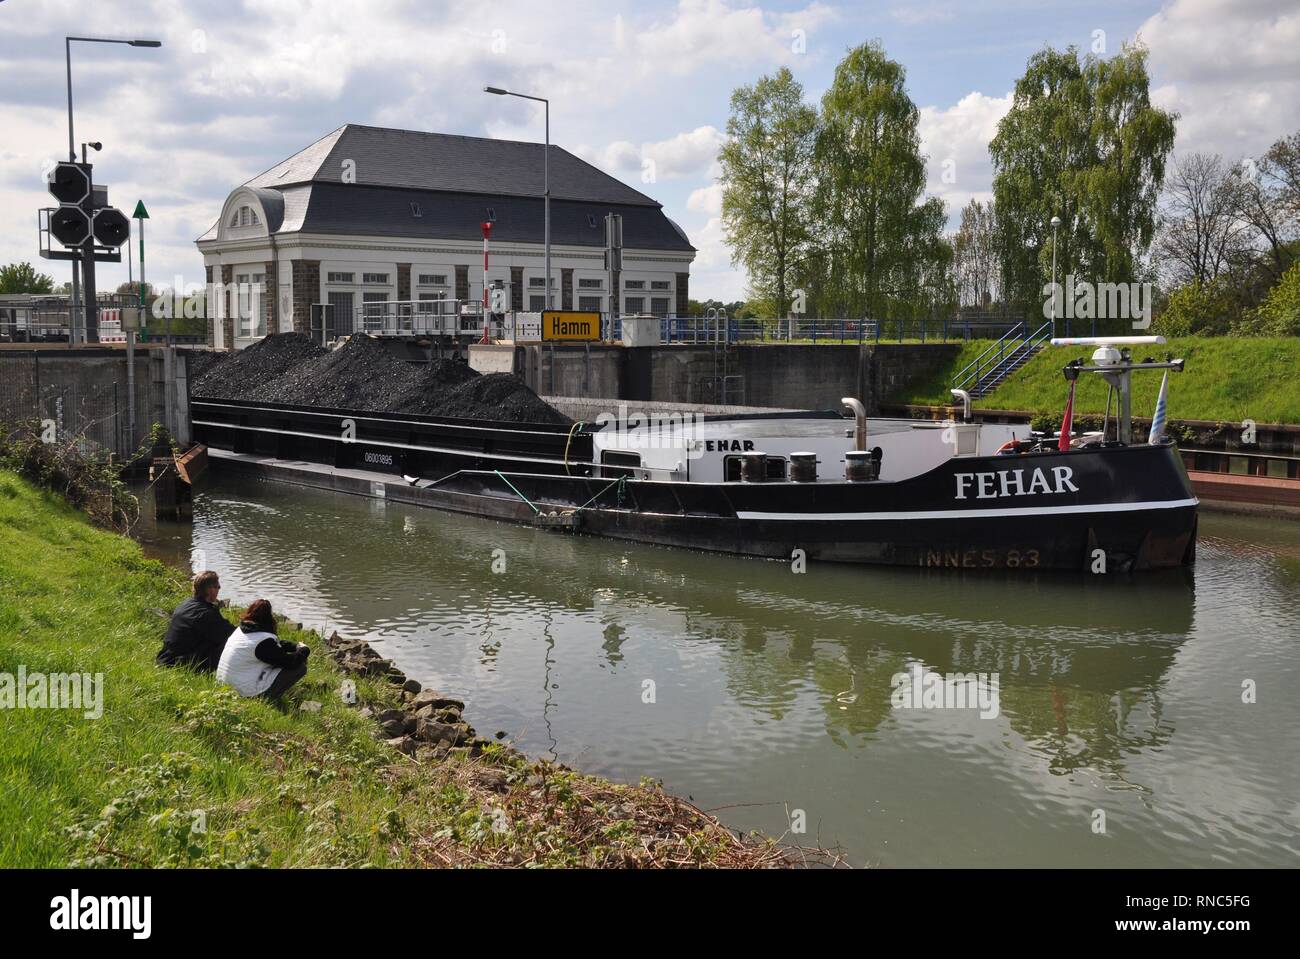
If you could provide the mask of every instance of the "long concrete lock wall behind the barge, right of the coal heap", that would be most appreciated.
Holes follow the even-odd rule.
[[[784,409],[833,409],[842,396],[857,396],[872,416],[894,389],[933,373],[958,350],[945,343],[504,348],[514,351],[515,372],[547,396]]]

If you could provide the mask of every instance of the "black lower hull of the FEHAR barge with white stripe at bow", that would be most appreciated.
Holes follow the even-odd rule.
[[[400,478],[216,455],[266,478],[629,542],[950,569],[1128,572],[1190,565],[1196,502],[1173,447],[952,460],[871,483],[668,483],[459,470]],[[958,500],[958,474],[1070,469],[1076,492]],[[508,482],[507,482],[508,481]],[[1122,492],[1121,492],[1122,491]],[[572,516],[566,516],[572,511]],[[554,516],[552,516],[554,513]]]

